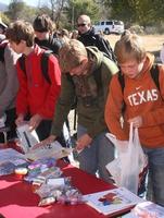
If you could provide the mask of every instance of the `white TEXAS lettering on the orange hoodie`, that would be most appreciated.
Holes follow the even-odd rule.
[[[143,102],[155,101],[159,98],[157,89],[140,90],[127,97],[130,106],[138,106]]]

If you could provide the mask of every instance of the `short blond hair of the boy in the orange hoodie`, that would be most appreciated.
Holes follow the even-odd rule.
[[[122,35],[121,39],[115,44],[114,52],[118,63],[124,63],[129,59],[136,59],[141,62],[146,57],[146,48],[141,37],[130,32]]]

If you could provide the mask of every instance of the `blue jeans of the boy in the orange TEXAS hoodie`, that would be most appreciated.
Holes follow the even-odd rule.
[[[149,160],[148,199],[164,206],[164,148],[146,148]]]

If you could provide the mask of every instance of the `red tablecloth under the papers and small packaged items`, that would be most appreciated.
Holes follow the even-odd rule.
[[[60,162],[65,175],[72,177],[72,184],[83,194],[104,191],[114,187],[96,177],[71,165]],[[0,178],[0,214],[7,218],[103,218],[91,207],[83,204],[66,206],[54,203],[48,207],[38,207],[39,196],[33,193],[31,185],[18,181],[16,177]]]

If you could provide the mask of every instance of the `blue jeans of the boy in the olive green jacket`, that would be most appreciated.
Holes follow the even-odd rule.
[[[87,133],[87,129],[77,126],[77,138]],[[105,166],[114,159],[114,145],[105,137],[105,133],[96,136],[90,144],[77,157],[79,168],[88,173],[96,174],[106,182],[112,182]]]

